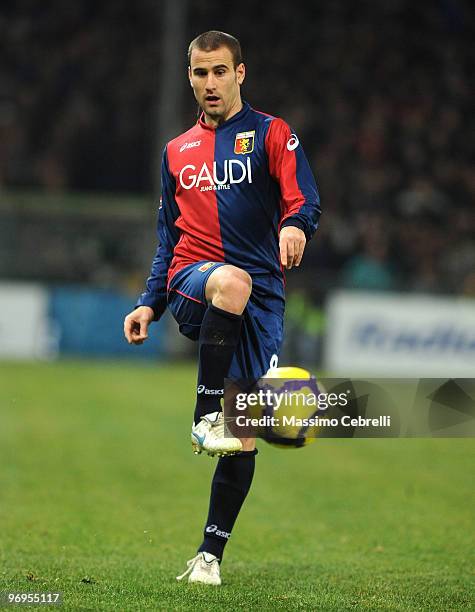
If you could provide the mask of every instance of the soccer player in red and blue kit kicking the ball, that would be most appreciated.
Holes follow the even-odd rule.
[[[277,366],[283,268],[300,265],[320,206],[298,137],[241,99],[239,41],[205,32],[191,42],[188,62],[202,112],[163,152],[159,246],[124,333],[142,344],[168,305],[180,332],[198,341],[192,447],[219,459],[203,542],[178,579],[219,585],[257,453],[255,440],[225,435],[224,379],[257,380]]]

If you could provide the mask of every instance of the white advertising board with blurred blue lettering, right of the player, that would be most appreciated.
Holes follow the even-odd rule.
[[[475,300],[342,291],[330,296],[327,320],[332,373],[474,376]]]

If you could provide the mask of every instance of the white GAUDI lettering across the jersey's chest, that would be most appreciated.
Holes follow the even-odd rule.
[[[206,162],[198,169],[193,164],[187,164],[180,170],[178,175],[180,185],[183,189],[198,187],[200,191],[213,191],[216,189],[230,189],[234,183],[247,181],[252,183],[251,159],[246,162],[239,159],[225,159],[223,174],[218,176],[216,162],[212,168]]]

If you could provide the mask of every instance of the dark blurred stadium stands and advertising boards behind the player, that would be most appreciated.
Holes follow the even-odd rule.
[[[321,227],[287,275],[283,361],[473,373],[469,9],[6,0],[0,356],[192,354],[170,320],[139,349],[121,321],[155,250],[157,160],[196,118],[186,47],[215,28],[240,38],[244,98],[291,124],[321,191]]]

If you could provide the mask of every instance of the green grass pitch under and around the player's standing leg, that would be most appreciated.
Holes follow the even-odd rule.
[[[177,583],[215,463],[191,452],[194,378],[0,364],[0,591],[61,591],[63,610],[474,609],[473,440],[260,442],[223,586]]]

